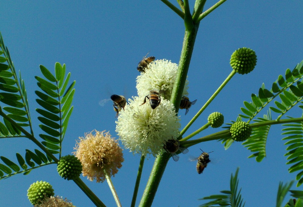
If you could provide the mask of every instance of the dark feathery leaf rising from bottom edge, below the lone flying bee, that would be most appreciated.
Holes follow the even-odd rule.
[[[211,195],[204,197],[200,200],[212,200],[208,203],[200,205],[200,207],[209,207],[209,206],[231,206],[231,207],[244,207],[245,202],[241,198],[241,189],[238,192],[238,172],[239,168],[236,170],[235,176],[231,174],[230,179],[230,190],[220,191],[222,194]],[[226,194],[226,195],[224,195]]]

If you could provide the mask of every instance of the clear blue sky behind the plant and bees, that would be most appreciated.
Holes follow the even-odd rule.
[[[215,2],[206,2],[205,10]],[[193,4],[190,1],[191,9]],[[251,93],[258,93],[262,83],[269,89],[279,74],[285,74],[287,68],[293,69],[302,60],[302,8],[302,1],[234,0],[225,2],[202,20],[188,72],[189,97],[198,101],[186,116],[185,110],[180,111],[182,127],[230,74],[233,51],[252,48],[258,63],[250,74],[236,74],[185,135],[204,125],[214,111],[224,114],[225,123],[236,120],[243,101],[250,101]],[[39,64],[54,71],[55,62],[65,63],[72,73],[71,80],[76,80],[74,111],[63,142],[63,155],[71,154],[75,140],[94,129],[109,130],[117,137],[112,105],[101,107],[98,102],[111,94],[137,94],[136,67],[148,51],[156,59],[179,62],[184,24],[160,1],[6,1],[1,3],[1,11],[0,31],[16,70],[21,71],[25,80],[36,136],[41,133],[34,93],[38,90],[34,76],[42,76]],[[260,116],[264,113],[267,112]],[[301,114],[296,107],[288,115]],[[207,129],[195,138],[219,130]],[[228,150],[217,141],[190,147],[178,162],[169,160],[153,206],[198,206],[203,203],[199,198],[228,190],[231,173],[237,167],[246,206],[275,206],[279,181],[288,182],[296,175],[287,171],[282,138],[281,127],[272,126],[267,157],[261,163],[248,159],[251,153],[241,143],[234,143]],[[0,155],[14,161],[15,153],[24,155],[25,149],[36,148],[25,138],[0,142]],[[196,163],[188,161],[191,156],[200,155],[199,148],[214,151],[210,154],[211,163],[200,175]],[[122,206],[129,206],[140,155],[124,150],[124,159],[112,181]],[[154,157],[145,161],[137,205],[153,162]],[[115,206],[106,182],[90,182],[81,177],[105,205]],[[50,182],[56,195],[70,199],[78,207],[93,206],[74,182],[58,176],[55,165],[33,170],[27,176],[1,180],[0,205],[30,206],[27,189],[37,180]]]

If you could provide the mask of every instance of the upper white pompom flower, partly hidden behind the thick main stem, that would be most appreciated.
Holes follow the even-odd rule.
[[[139,97],[148,96],[150,90],[160,91],[160,95],[170,100],[172,88],[177,76],[178,64],[166,59],[156,60],[148,65],[145,73],[137,77]],[[183,96],[187,96],[188,80],[185,82]]]

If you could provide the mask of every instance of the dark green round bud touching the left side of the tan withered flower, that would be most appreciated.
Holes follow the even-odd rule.
[[[82,165],[74,155],[66,155],[59,160],[57,171],[62,178],[72,180],[80,176]]]

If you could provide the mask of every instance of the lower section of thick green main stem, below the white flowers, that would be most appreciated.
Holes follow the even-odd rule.
[[[171,155],[169,153],[163,153],[161,155],[158,155],[158,157],[156,158],[145,190],[143,192],[139,207],[151,206],[155,198],[155,194],[157,192],[161,177],[164,173],[165,167],[170,157]]]

